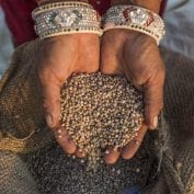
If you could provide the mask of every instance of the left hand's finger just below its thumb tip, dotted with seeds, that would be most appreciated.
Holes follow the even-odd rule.
[[[77,147],[71,140],[68,132],[64,127],[59,127],[58,129],[54,129],[55,137],[65,152],[72,155],[76,152]]]

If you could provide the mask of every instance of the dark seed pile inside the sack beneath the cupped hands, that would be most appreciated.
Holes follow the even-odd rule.
[[[95,171],[88,170],[87,161],[64,155],[57,144],[28,153],[25,161],[41,194],[124,194],[127,187],[144,187],[150,175],[155,179],[155,139],[156,134],[148,133],[133,159],[100,163]]]

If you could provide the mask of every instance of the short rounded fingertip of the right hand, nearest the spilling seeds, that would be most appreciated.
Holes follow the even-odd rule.
[[[104,160],[107,164],[114,164],[119,158],[119,151],[117,149],[107,149],[105,151]]]

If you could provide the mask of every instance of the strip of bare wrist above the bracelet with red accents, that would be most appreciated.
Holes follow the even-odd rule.
[[[146,8],[150,11],[159,13],[162,0],[112,0],[112,5],[118,4],[134,4],[138,7]]]

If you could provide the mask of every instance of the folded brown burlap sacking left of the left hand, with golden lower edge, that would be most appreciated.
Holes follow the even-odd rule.
[[[0,81],[0,149],[27,152],[53,139],[47,129],[34,69],[38,44],[15,50]]]

